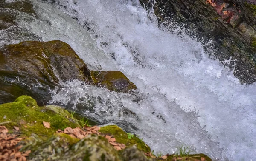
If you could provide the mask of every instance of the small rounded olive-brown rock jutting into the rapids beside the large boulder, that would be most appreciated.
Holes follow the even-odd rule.
[[[120,71],[91,71],[96,84],[116,92],[128,92],[137,87]]]

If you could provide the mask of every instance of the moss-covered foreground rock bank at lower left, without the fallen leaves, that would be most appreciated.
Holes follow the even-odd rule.
[[[66,127],[80,127],[79,121],[73,118],[67,110],[55,105],[39,107],[29,96],[20,96],[15,102],[0,105],[0,124],[9,129],[9,133],[19,134],[25,138],[17,146],[20,151],[31,150],[29,160],[84,160],[84,161],[152,161],[160,158],[147,158],[143,153],[150,153],[150,147],[140,138],[131,133],[125,133],[116,125],[101,127],[100,136],[92,134],[79,140],[64,133],[55,133]],[[50,123],[50,128],[44,127],[43,121]],[[14,126],[19,130],[12,130]],[[116,138],[126,148],[117,151],[103,135]],[[175,155],[169,155],[167,161],[172,161]],[[191,160],[204,157],[204,154],[186,155],[183,158]],[[188,159],[186,159],[188,160]]]

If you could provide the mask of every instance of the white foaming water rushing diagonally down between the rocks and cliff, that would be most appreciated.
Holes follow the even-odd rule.
[[[200,42],[159,29],[154,12],[137,0],[33,4],[38,17],[20,13],[20,28],[67,42],[91,69],[122,71],[138,87],[116,93],[63,82],[51,103],[119,124],[154,152],[174,153],[184,144],[214,159],[256,160],[256,87],[241,85],[236,71],[209,59]]]

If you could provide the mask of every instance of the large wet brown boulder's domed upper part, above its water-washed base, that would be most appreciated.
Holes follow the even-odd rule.
[[[6,46],[0,54],[0,70],[29,75],[39,81],[58,83],[70,79],[87,80],[90,71],[65,42],[26,41]]]

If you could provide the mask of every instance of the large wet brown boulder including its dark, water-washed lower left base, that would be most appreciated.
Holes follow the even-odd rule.
[[[59,82],[90,82],[89,77],[84,62],[70,45],[61,41],[26,41],[0,51],[0,103],[24,94],[47,102],[49,89]]]

